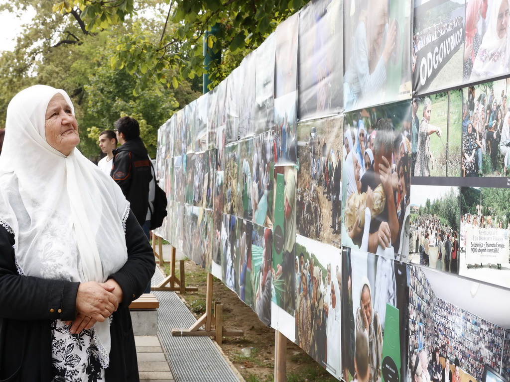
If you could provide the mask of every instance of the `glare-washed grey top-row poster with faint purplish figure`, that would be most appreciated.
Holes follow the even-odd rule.
[[[327,117],[342,110],[343,1],[315,0],[299,13],[298,120]]]

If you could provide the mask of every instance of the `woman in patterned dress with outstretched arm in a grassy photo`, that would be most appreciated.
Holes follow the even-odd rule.
[[[430,98],[425,98],[423,102],[423,118],[420,124],[420,131],[418,132],[418,148],[416,153],[416,165],[414,176],[430,176],[429,163],[433,161],[432,153],[430,152],[430,134],[436,133],[441,137],[441,129],[432,126],[430,122],[430,115],[432,102]]]

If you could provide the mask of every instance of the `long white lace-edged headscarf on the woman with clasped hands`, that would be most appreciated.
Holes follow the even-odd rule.
[[[0,224],[14,233],[20,275],[105,282],[127,260],[129,203],[78,149],[65,156],[46,142],[46,108],[57,93],[74,114],[66,92],[44,85],[22,90],[9,103],[0,156]],[[94,328],[106,368],[110,321]]]

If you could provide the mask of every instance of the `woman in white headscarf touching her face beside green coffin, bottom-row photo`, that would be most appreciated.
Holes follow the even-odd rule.
[[[368,336],[369,382],[380,382],[382,366],[382,328],[377,312],[372,309],[370,282],[362,280],[360,308],[356,311],[356,330]]]

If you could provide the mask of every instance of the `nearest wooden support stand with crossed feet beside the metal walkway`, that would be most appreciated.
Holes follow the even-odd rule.
[[[221,345],[223,337],[244,336],[242,330],[229,330],[223,328],[223,304],[216,301],[214,303],[214,316],[212,315],[213,305],[213,275],[207,274],[207,290],[206,290],[206,313],[204,313],[196,322],[188,329],[172,329],[172,336],[175,337],[192,337],[204,336],[214,337],[216,342]],[[214,325],[214,329],[212,328]],[[200,329],[202,326],[205,329]]]

